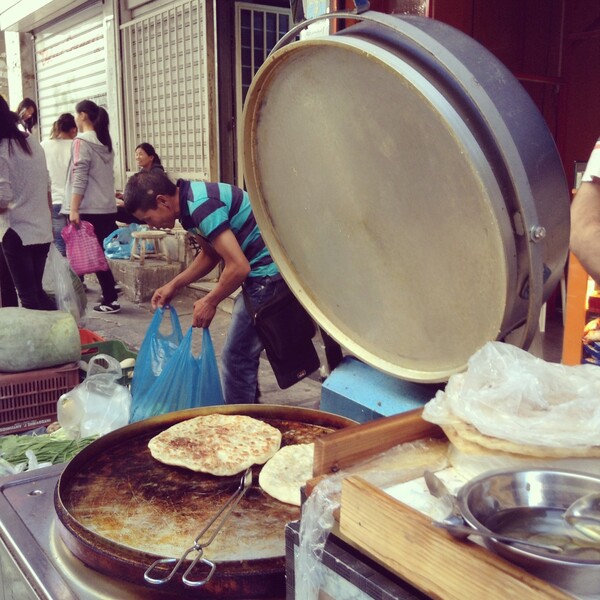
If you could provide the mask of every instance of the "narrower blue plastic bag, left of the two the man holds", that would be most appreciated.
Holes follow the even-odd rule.
[[[164,328],[161,331],[161,325],[167,310],[171,320],[171,333],[163,333]],[[159,308],[152,317],[138,352],[133,379],[131,380],[132,396],[141,398],[146,394],[157,377],[163,372],[169,359],[179,348],[182,339],[183,332],[181,331],[177,311],[169,305]]]

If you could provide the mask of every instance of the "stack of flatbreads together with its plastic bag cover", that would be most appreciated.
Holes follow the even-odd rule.
[[[600,470],[600,369],[549,363],[488,342],[423,409],[469,471],[534,465]],[[463,469],[464,467],[464,469]]]

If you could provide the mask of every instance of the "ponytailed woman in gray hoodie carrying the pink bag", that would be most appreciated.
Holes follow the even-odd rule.
[[[79,133],[73,140],[61,213],[68,215],[75,225],[89,221],[102,248],[104,238],[117,228],[115,155],[108,130],[108,113],[91,100],[83,100],[75,107],[75,123]],[[111,270],[97,271],[96,277],[102,288],[102,298],[94,310],[119,312],[121,307],[117,303]]]

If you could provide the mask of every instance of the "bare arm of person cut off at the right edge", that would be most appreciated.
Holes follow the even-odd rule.
[[[584,182],[571,204],[570,248],[600,283],[600,179]]]

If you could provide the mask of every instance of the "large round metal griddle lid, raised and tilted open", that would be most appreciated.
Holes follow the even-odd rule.
[[[443,381],[485,342],[527,347],[568,248],[553,139],[503,65],[432,19],[374,12],[282,46],[244,107],[256,220],[334,339]]]

